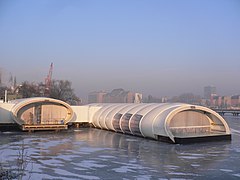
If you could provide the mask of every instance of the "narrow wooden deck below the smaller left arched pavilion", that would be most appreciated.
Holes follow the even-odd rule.
[[[34,125],[24,124],[22,125],[21,128],[23,131],[65,130],[65,129],[68,129],[68,125],[66,124],[34,124]]]

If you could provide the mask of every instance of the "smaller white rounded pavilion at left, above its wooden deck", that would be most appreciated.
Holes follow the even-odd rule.
[[[12,116],[19,125],[67,124],[73,117],[71,106],[57,99],[35,97],[12,103]]]

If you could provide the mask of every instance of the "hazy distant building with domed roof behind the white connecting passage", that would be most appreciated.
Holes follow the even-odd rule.
[[[142,94],[114,89],[110,93],[91,92],[88,95],[88,103],[141,103]]]

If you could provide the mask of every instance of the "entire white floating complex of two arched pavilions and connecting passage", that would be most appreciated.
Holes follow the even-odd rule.
[[[184,103],[97,103],[85,106],[45,97],[3,103],[0,119],[23,131],[65,130],[80,123],[171,143],[231,140],[231,131],[217,112]],[[4,123],[2,120],[1,123]]]

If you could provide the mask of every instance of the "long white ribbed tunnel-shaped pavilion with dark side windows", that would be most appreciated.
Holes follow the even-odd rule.
[[[226,121],[215,111],[190,104],[104,104],[93,125],[101,129],[158,140],[230,135]]]

